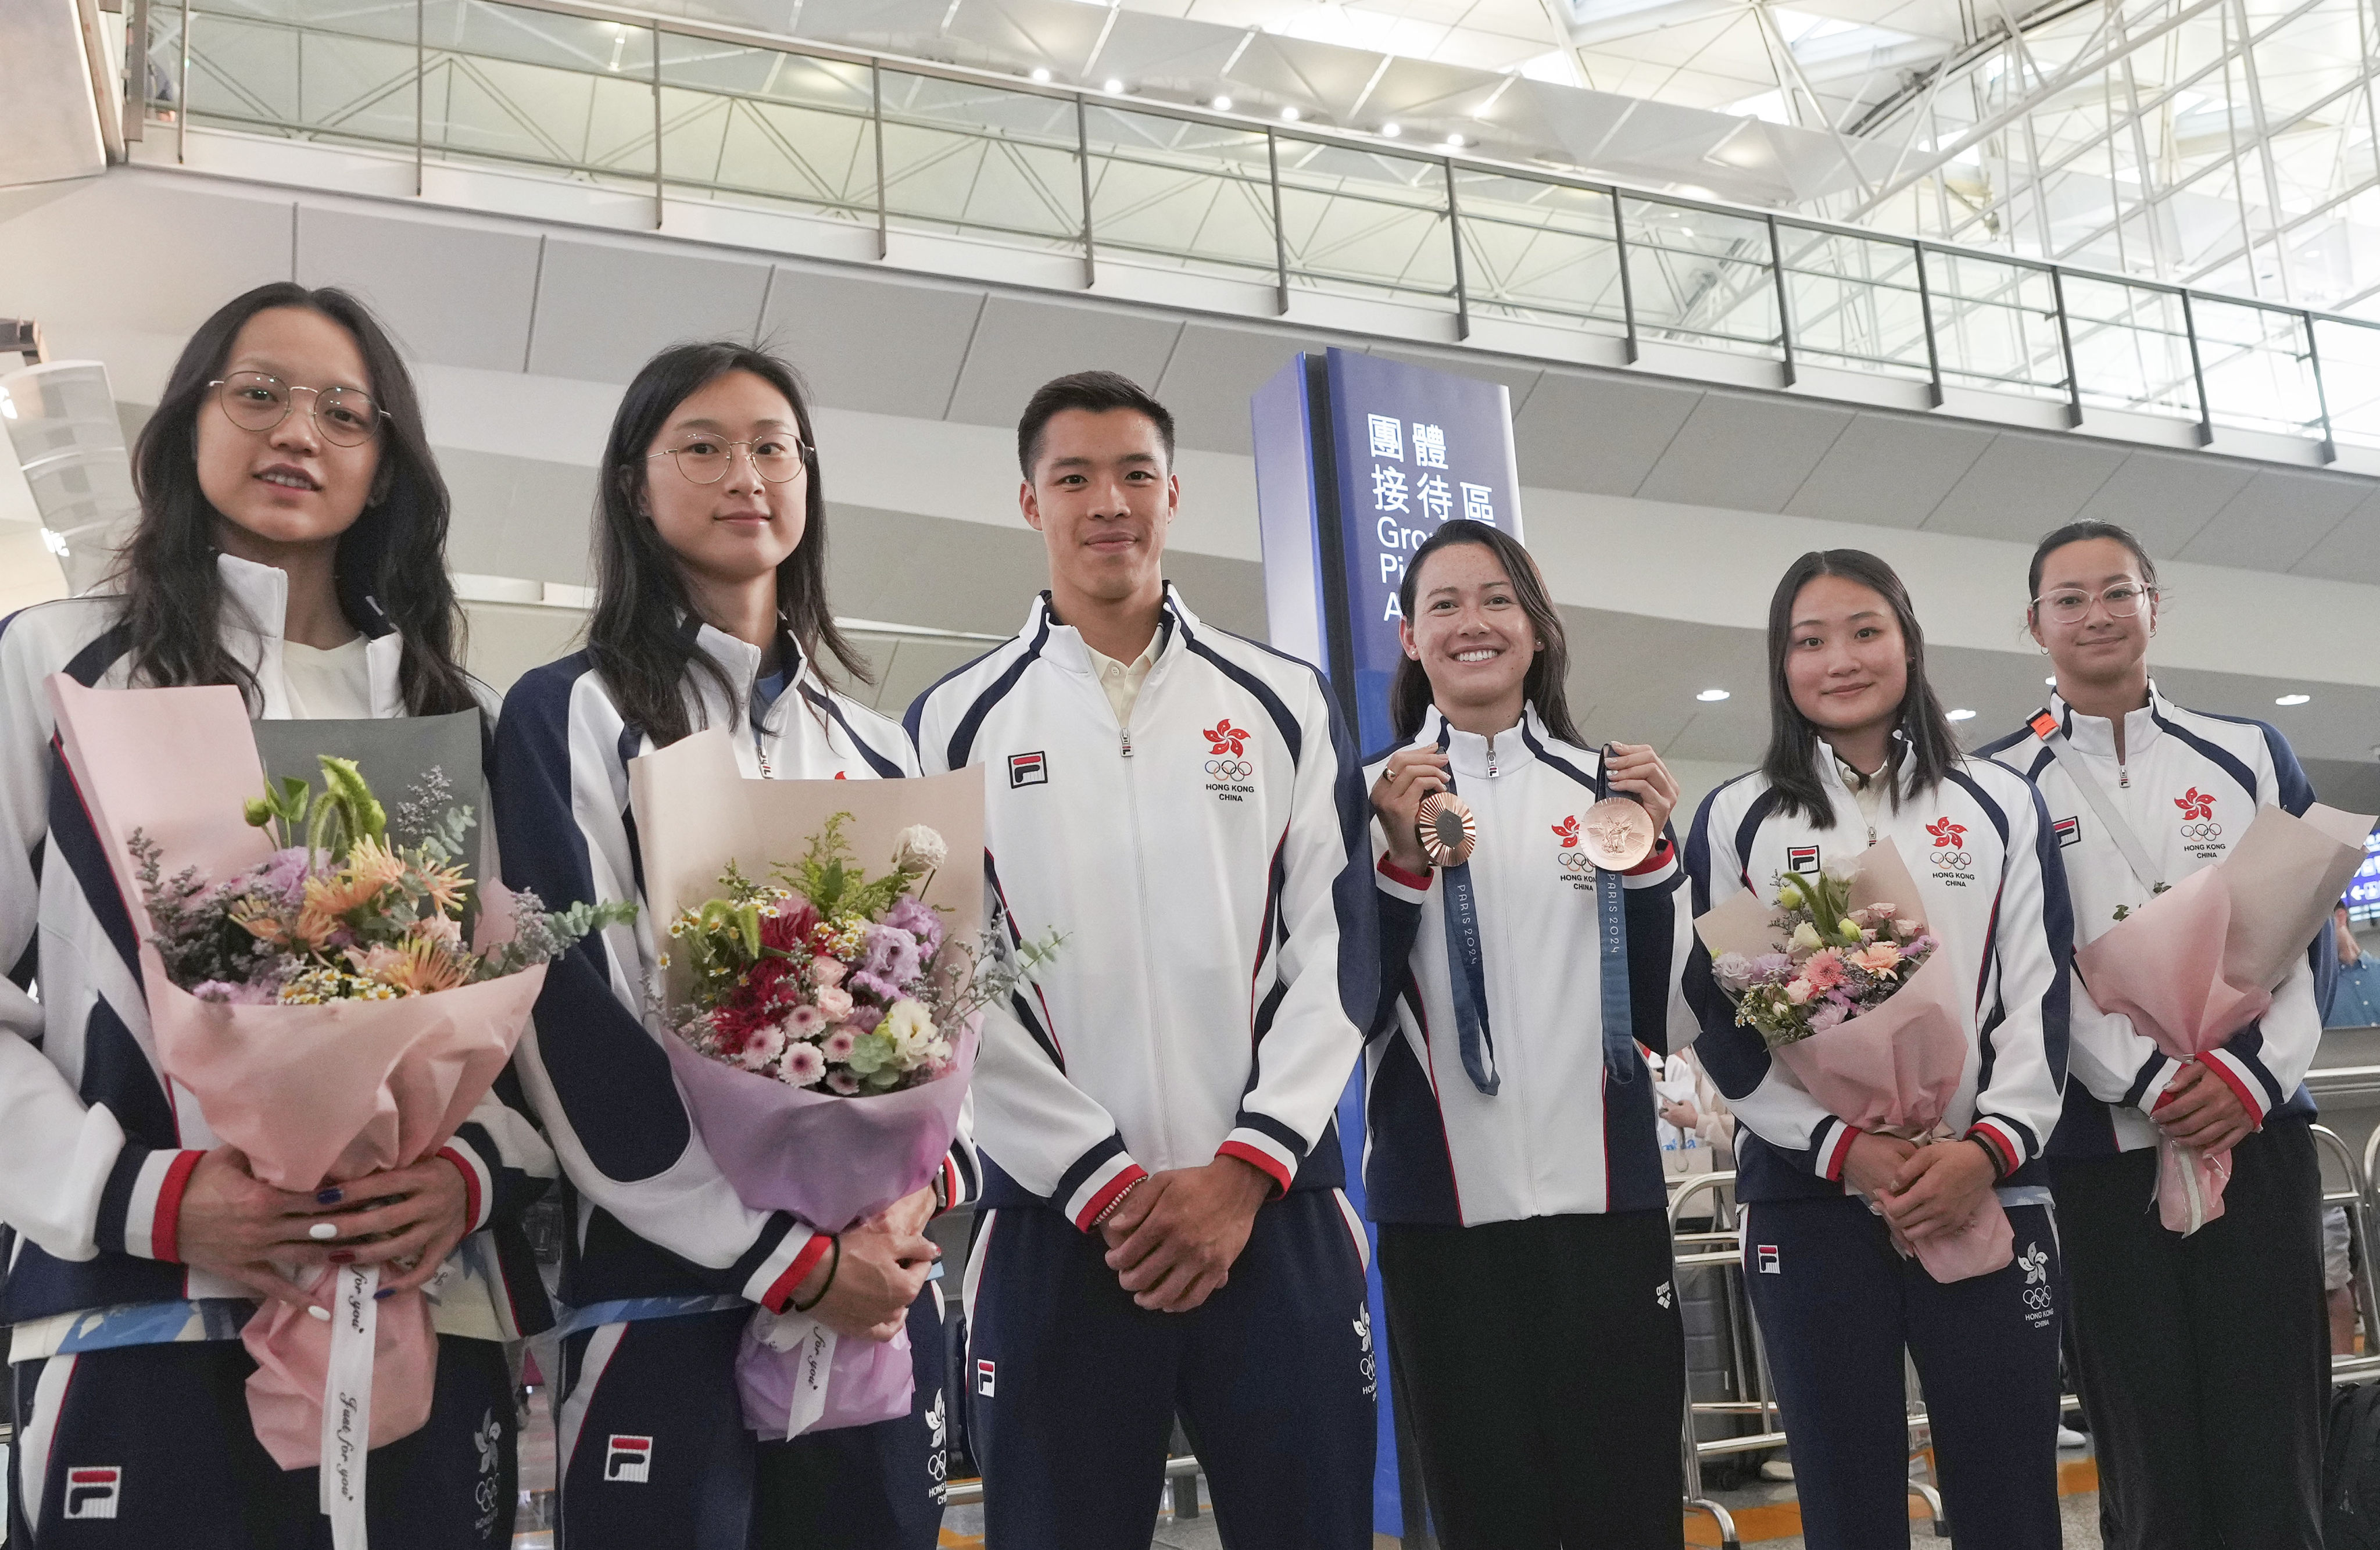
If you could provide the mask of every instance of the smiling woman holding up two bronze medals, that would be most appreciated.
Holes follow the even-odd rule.
[[[1587,748],[1511,536],[1447,521],[1399,590],[1371,764],[1388,979],[1366,1188],[1449,1550],[1678,1543],[1685,1352],[1654,1086],[1683,874],[1652,748]]]

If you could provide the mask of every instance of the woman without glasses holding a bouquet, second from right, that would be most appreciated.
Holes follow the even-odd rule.
[[[1906,1355],[1959,1543],[2054,1550],[2061,1283],[2040,1155],[2066,1081],[2073,950],[2056,838],[2021,776],[1959,752],[1909,590],[1875,555],[1809,552],[1778,581],[1768,726],[1761,767],[1695,817],[1697,919],[1894,840],[1918,898],[1892,902],[1975,986],[1949,1138],[1914,1145],[1830,1114],[1735,1021],[1699,940],[1687,955],[1697,1052],[1740,1121],[1745,1281],[1804,1533],[1814,1550],[1909,1543]],[[2004,1269],[1942,1283],[1894,1243],[1964,1229],[1994,1190],[2013,1229]]]

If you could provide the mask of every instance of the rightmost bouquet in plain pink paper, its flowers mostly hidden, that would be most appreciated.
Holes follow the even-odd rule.
[[[2190,795],[2211,812],[2213,798]],[[2075,950],[2075,976],[2102,1012],[2130,1017],[2166,1057],[2206,1060],[2271,1010],[2273,988],[2328,931],[2370,826],[2368,812],[2320,802],[2304,817],[2259,807],[2223,862],[2118,905],[2116,924]],[[2190,1236],[2223,1214],[2228,1150],[2202,1152],[2159,1133],[2156,1152],[2166,1231]]]

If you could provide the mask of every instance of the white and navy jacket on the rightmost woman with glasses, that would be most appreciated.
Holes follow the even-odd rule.
[[[2259,807],[2304,812],[2313,805],[2313,786],[2297,755],[2263,721],[2182,710],[2152,683],[2149,705],[2123,719],[2125,757],[2118,764],[2113,724],[2075,714],[2059,698],[2049,700],[2049,712],[2168,883],[2230,855]],[[2078,948],[2109,931],[2118,907],[2137,910],[2149,900],[2149,883],[2132,876],[2049,745],[2028,729],[1983,752],[2025,771],[2042,793],[2073,890]],[[2259,1126],[2275,1114],[2313,1117],[2304,1076],[2323,1036],[2323,1000],[2335,971],[2325,924],[2306,962],[2273,990],[2273,1007],[2206,1055],[2206,1067],[2240,1095]],[[2085,988],[2073,998],[2071,1060],[2075,1081],[2066,1086],[2066,1119],[2052,1155],[2094,1157],[2156,1145],[2149,1110],[2182,1067],[2135,1031],[2130,1017],[2102,1012]]]

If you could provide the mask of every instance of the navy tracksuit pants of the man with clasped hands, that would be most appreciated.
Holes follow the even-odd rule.
[[[1147,1550],[1180,1417],[1226,1550],[1371,1550],[1378,1364],[1361,1224],[1338,1190],[1257,1210],[1230,1281],[1138,1307],[1054,1210],[983,1212],[969,1436],[988,1550]]]

